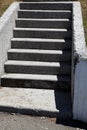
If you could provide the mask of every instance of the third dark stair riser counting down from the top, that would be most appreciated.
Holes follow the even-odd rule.
[[[71,22],[70,21],[16,20],[16,27],[21,27],[21,28],[71,28]]]

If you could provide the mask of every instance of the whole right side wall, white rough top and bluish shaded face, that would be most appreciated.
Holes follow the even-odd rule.
[[[73,44],[74,58],[77,58],[74,75],[73,118],[87,122],[87,56],[85,56],[86,45],[79,2],[73,3]]]

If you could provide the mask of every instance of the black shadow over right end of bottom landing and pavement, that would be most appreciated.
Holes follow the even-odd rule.
[[[56,108],[59,110],[56,123],[73,128],[87,130],[87,123],[72,119],[71,94],[69,91],[55,91]]]

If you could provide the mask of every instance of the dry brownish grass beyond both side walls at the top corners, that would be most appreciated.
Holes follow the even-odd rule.
[[[3,14],[3,12],[8,8],[8,6],[13,1],[21,1],[21,0],[0,0],[0,16]],[[79,0],[82,5],[82,11],[83,11],[83,23],[84,23],[84,29],[85,29],[85,38],[87,43],[87,0]]]

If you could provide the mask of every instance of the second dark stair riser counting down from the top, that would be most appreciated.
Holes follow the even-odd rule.
[[[71,18],[70,12],[29,12],[18,11],[18,18]]]

